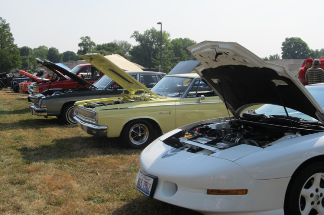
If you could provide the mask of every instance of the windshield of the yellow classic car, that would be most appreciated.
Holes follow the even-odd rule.
[[[166,97],[180,97],[188,88],[192,78],[185,77],[164,77],[151,91],[157,95]]]

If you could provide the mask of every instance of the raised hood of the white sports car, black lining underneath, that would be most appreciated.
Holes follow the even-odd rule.
[[[236,117],[249,106],[274,104],[324,123],[324,112],[285,67],[263,61],[235,42],[204,41],[188,47],[202,64],[196,71]]]

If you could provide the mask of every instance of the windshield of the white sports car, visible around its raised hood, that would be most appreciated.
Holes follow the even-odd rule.
[[[314,97],[314,99],[317,101],[317,103],[320,105],[322,109],[324,109],[324,98],[323,98],[323,91],[324,91],[324,86],[323,85],[309,85],[306,86],[306,89],[309,91],[309,93]],[[299,111],[286,108],[288,115],[292,117],[298,117],[307,121],[317,121],[316,119],[303,114]],[[286,116],[286,113],[284,111],[284,108],[282,106],[278,105],[270,105],[270,104],[265,104],[258,109],[255,110],[257,114],[263,114],[265,113],[268,116],[271,115],[284,115]]]

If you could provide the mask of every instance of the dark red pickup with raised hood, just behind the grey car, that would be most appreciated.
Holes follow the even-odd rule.
[[[76,65],[71,71],[50,62],[50,61],[41,61],[36,59],[38,63],[41,64],[41,67],[46,71],[51,71],[54,74],[51,79],[44,83],[32,83],[28,86],[28,101],[33,101],[34,95],[42,93],[44,95],[51,95],[54,92],[62,92],[68,89],[83,88],[87,87],[88,83],[93,84],[97,79],[99,79],[103,73],[92,66],[90,63]],[[71,79],[71,76],[81,77],[78,80],[74,81]],[[87,82],[82,82],[82,79],[85,79]]]

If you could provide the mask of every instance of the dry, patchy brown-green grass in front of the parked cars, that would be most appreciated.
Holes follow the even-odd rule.
[[[199,215],[135,189],[141,150],[32,116],[0,91],[0,215]]]

